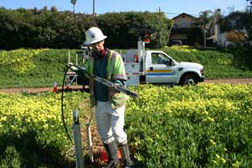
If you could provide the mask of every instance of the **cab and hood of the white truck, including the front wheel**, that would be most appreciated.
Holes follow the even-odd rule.
[[[147,83],[194,85],[204,80],[202,65],[177,62],[162,51],[147,51],[145,66]]]

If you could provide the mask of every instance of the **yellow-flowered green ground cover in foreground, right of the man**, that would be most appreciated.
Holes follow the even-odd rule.
[[[126,128],[137,167],[251,167],[252,85],[132,87]]]

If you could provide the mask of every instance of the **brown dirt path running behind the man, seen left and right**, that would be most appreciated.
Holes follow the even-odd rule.
[[[230,84],[252,84],[252,78],[243,79],[213,79],[205,80],[205,83],[230,83]],[[71,86],[72,89],[82,89],[82,86]],[[57,87],[58,90],[61,87]],[[18,93],[18,92],[29,92],[29,93],[39,93],[39,92],[49,92],[53,91],[53,88],[10,88],[10,89],[0,89],[0,92],[5,93]]]

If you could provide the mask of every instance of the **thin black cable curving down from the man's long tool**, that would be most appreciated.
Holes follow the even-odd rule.
[[[61,118],[62,118],[63,126],[64,126],[65,132],[67,134],[67,137],[71,141],[71,143],[74,144],[71,136],[68,133],[67,127],[66,127],[66,122],[65,122],[65,117],[64,117],[64,108],[63,108],[63,106],[64,106],[63,100],[64,100],[65,78],[66,78],[67,71],[69,69],[70,69],[70,67],[66,67],[66,69],[64,71],[63,83],[62,83],[62,88],[61,88]]]

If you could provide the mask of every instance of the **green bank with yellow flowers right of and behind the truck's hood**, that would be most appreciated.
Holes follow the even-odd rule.
[[[165,47],[164,52],[177,61],[197,62],[204,65],[205,77],[239,78],[251,77],[251,49],[197,50],[189,46]]]

